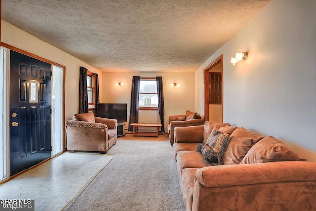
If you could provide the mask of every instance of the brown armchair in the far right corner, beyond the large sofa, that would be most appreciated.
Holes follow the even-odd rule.
[[[187,127],[187,126],[197,126],[204,125],[204,119],[195,112],[186,111],[186,114],[171,115],[169,116],[168,134],[170,139],[170,144],[174,143],[174,128],[175,127]]]

